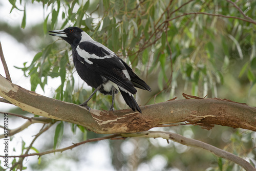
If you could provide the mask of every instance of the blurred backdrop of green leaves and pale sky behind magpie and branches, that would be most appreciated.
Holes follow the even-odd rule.
[[[77,75],[70,46],[47,33],[77,26],[116,52],[150,85],[151,93],[138,90],[136,100],[140,105],[174,97],[183,99],[182,93],[186,93],[255,106],[256,21],[250,18],[256,18],[256,2],[236,4],[237,7],[230,1],[1,1],[0,41],[13,83],[59,100],[80,104],[93,91]],[[0,74],[5,75],[0,66]],[[89,105],[108,110],[110,104],[111,96],[97,94]],[[115,109],[125,108],[119,94]],[[5,103],[0,104],[0,112],[34,116]],[[2,114],[0,119],[1,125]],[[10,129],[25,122],[9,115]],[[41,127],[40,123],[32,124],[12,136],[9,155],[24,153]],[[256,134],[252,131],[218,125],[210,131],[193,125],[152,130],[197,139],[256,164]],[[35,141],[30,153],[102,136],[58,121]],[[10,167],[17,162],[17,158],[9,160]],[[160,138],[87,143],[39,160],[37,156],[27,157],[23,166],[24,170],[242,170],[202,149]]]

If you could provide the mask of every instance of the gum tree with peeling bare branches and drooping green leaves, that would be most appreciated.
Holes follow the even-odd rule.
[[[11,12],[24,11],[21,27],[26,28],[28,2],[22,2],[23,9],[16,6],[18,2],[9,2],[13,6]],[[31,124],[44,123],[31,144],[23,146],[21,155],[9,156],[10,159],[15,158],[8,166],[11,170],[22,170],[24,159],[30,156],[38,156],[41,159],[44,155],[67,151],[92,141],[130,141],[127,137],[136,137],[134,139],[137,142],[143,137],[163,138],[168,143],[175,141],[203,148],[208,151],[204,153],[210,152],[220,157],[215,158],[214,167],[210,168],[208,164],[202,169],[230,170],[242,167],[246,170],[255,170],[256,109],[243,102],[253,106],[255,101],[256,21],[252,18],[255,18],[256,3],[235,3],[229,0],[37,2],[45,10],[41,30],[52,43],[43,44],[41,51],[33,60],[24,63],[24,67],[20,68],[20,72],[24,72],[24,75],[30,78],[31,90],[21,88],[12,82],[2,49],[0,54],[6,74],[6,78],[2,76],[4,73],[0,76],[0,96],[3,97],[1,102],[14,104],[22,110],[40,116],[31,118],[13,114],[27,119],[27,122],[15,130],[9,130],[9,136],[15,136],[27,127],[29,129]],[[93,90],[76,86],[71,49],[64,41],[54,41],[47,35],[49,30],[69,26],[82,28],[93,39],[116,52],[151,86],[152,93],[139,91],[136,96],[142,104],[142,114],[130,109],[121,110],[125,106],[121,98],[115,101],[116,111],[105,111],[109,108],[111,97],[101,94],[94,96],[93,102],[90,101],[89,105],[93,108],[90,112],[77,105],[87,99]],[[54,97],[37,94],[36,88],[45,91],[45,85],[51,78],[61,80]],[[74,133],[78,127],[84,135],[93,134],[92,132],[111,135],[93,134],[86,140],[58,148],[65,135],[63,130],[67,123],[70,123],[68,125]],[[33,147],[34,141],[53,125],[56,125],[53,149],[39,152]],[[229,135],[230,139],[226,142],[223,142],[220,136],[209,136],[209,141],[206,142],[182,136],[186,130],[193,132],[193,135],[201,134],[204,132],[202,129],[211,133],[215,125],[236,128],[236,131],[229,129],[232,135]],[[162,128],[160,131],[148,131],[153,127]],[[219,127],[218,133],[221,136],[224,135],[222,130],[224,129]],[[4,135],[0,136],[4,138]],[[197,138],[202,139],[200,136]],[[221,143],[213,141],[212,146],[210,140],[213,139]],[[241,139],[246,139],[246,142]],[[151,143],[148,139],[142,141]],[[231,146],[231,150],[224,150],[221,149],[223,143],[227,143],[227,146],[237,145]],[[218,145],[220,148],[215,147]],[[241,151],[241,145],[245,148],[244,151]],[[117,169],[124,165],[135,170],[154,156],[162,155],[167,161],[163,170],[184,169],[176,163],[175,158],[179,155],[177,152],[170,154],[159,150],[163,147],[150,146],[144,149],[147,155],[137,155],[133,164],[129,164],[128,161],[122,163],[113,157],[113,165]],[[120,148],[120,144],[113,145],[112,148]],[[31,149],[36,153],[32,153]],[[113,149],[112,153],[114,156],[117,152]],[[133,155],[136,156],[136,153],[138,152],[134,151]],[[187,153],[189,156],[196,155],[195,151],[183,152]],[[200,156],[200,160],[195,164],[194,159],[187,160],[180,155],[187,169],[193,170],[200,162],[205,162],[204,155]]]

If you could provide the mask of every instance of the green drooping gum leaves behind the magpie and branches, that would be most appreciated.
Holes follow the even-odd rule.
[[[24,11],[21,27],[25,28],[27,19],[25,5],[24,9],[18,9],[16,0],[9,2],[12,5],[11,12],[14,9]],[[79,104],[89,97],[93,90],[76,86],[70,46],[65,41],[55,41],[56,37],[47,35],[50,30],[77,26],[129,63],[133,70],[153,88],[151,94],[139,95],[141,104],[147,101],[148,103],[166,101],[173,96],[181,96],[181,92],[200,97],[208,95],[209,98],[227,98],[248,103],[252,101],[252,104],[255,102],[255,21],[248,22],[250,19],[245,18],[227,1],[32,0],[32,3],[35,2],[40,3],[45,9],[45,20],[41,27],[42,33],[50,43],[40,48],[41,51],[34,56],[32,62],[25,62],[24,67],[19,68],[25,76],[30,77],[31,91],[35,91],[38,85],[45,91],[49,78],[56,78],[60,79],[61,83],[55,90],[54,98]],[[256,18],[256,2],[236,1],[236,4],[248,17]],[[251,101],[249,98],[247,100],[250,94]],[[89,105],[91,108],[108,110],[110,101],[111,97],[98,94],[93,97]],[[115,108],[121,109],[123,105],[116,101]],[[54,148],[59,145],[65,134],[64,126],[63,122],[56,126]],[[83,133],[83,139],[86,139],[88,135],[84,127],[72,125],[72,132],[75,133],[77,127]],[[183,134],[189,129],[167,131],[175,130]],[[197,127],[191,128],[190,131],[200,132]],[[232,130],[228,131],[233,133]],[[212,135],[214,133],[210,132],[210,136],[205,133],[205,137],[215,145],[231,144],[229,147],[233,151],[230,152],[238,155],[245,153],[245,150],[239,150],[239,147],[247,146],[251,149],[250,155],[255,157],[255,151],[252,150],[255,143],[239,143],[242,138],[251,141],[253,136],[250,133],[238,131],[230,140],[224,141],[225,138],[220,137],[223,131],[217,130],[217,132],[218,135]],[[166,170],[178,167],[175,163],[180,161],[184,165],[183,168],[188,170],[198,168],[198,161],[206,163],[202,166],[202,170],[240,169],[221,158],[197,154],[197,152],[195,155],[178,153],[178,147],[175,145],[166,148],[158,144],[157,149],[145,147],[145,151],[148,151],[148,154],[138,160],[140,163],[146,163],[156,154],[161,154],[168,161]],[[177,157],[182,154],[182,157]],[[213,163],[211,168],[209,160]]]

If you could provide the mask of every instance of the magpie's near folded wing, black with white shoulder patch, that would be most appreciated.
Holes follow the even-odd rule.
[[[99,46],[99,43],[81,42],[76,48],[78,60],[92,71],[99,73],[128,92],[135,94],[137,90],[130,81],[130,76],[122,61],[114,52],[101,46]]]

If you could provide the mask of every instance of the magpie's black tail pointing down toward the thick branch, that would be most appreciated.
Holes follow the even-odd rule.
[[[133,111],[137,110],[139,111],[139,113],[141,113],[141,109],[138,103],[136,102],[136,100],[134,99],[133,95],[120,87],[119,87],[119,90],[126,104],[129,105],[129,107],[132,108]]]

